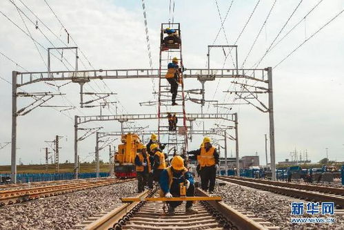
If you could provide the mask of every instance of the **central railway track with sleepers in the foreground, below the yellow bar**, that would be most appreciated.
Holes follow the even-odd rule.
[[[196,189],[196,195],[209,197],[199,189]],[[76,225],[74,229],[280,229],[243,209],[234,209],[214,200],[196,202],[197,214],[186,214],[184,203],[176,208],[175,215],[167,215],[163,211],[163,202],[145,201],[150,197],[158,197],[158,193],[141,193],[137,197],[141,201],[114,207]]]

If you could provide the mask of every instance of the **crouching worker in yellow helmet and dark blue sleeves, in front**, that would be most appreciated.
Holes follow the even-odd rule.
[[[191,173],[184,167],[184,160],[181,156],[176,155],[171,161],[171,166],[163,170],[159,180],[161,187],[160,195],[165,198],[179,197],[181,191],[185,189],[186,196],[194,196],[194,178]],[[167,201],[168,213],[174,215],[174,209],[181,205],[182,201]],[[192,201],[186,202],[185,213],[197,213],[192,209]]]

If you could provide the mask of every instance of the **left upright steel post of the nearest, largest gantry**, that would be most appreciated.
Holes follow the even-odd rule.
[[[17,71],[12,71],[11,181],[17,183]]]

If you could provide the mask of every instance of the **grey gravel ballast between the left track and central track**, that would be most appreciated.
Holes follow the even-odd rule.
[[[0,229],[70,229],[132,196],[137,182],[101,186],[0,209]]]

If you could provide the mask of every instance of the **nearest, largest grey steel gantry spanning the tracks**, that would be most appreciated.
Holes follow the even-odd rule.
[[[266,74],[267,73],[267,74]],[[159,69],[114,69],[114,70],[77,70],[77,71],[46,71],[46,72],[26,72],[21,73],[12,71],[12,148],[11,148],[11,180],[17,182],[17,90],[21,86],[37,82],[50,81],[72,81],[74,83],[89,82],[91,79],[148,79],[158,78]],[[251,79],[256,82],[268,84],[267,92],[269,95],[269,112],[270,119],[270,155],[272,180],[276,180],[275,150],[274,150],[274,115],[273,115],[273,97],[272,97],[272,68],[263,69],[205,69],[194,68],[187,69],[183,73],[184,79],[203,79],[214,78],[233,78],[233,79]],[[264,112],[267,112],[264,111]],[[77,117],[77,116],[76,116]],[[214,117],[212,117],[214,118]],[[221,117],[220,117],[221,118]],[[77,122],[76,122],[77,123]],[[76,135],[77,136],[77,135]],[[74,148],[77,148],[74,146]],[[77,170],[77,156],[74,159]]]

